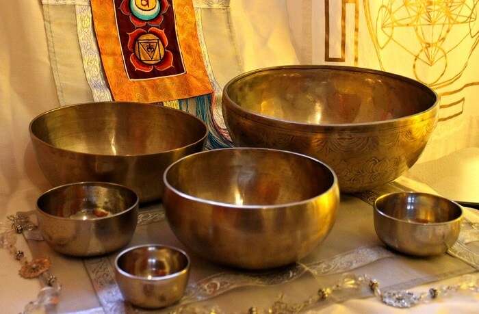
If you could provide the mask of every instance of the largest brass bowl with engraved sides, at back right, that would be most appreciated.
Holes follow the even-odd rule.
[[[253,70],[224,86],[222,111],[237,146],[296,151],[331,166],[343,192],[393,181],[421,155],[437,123],[422,83],[346,66]]]

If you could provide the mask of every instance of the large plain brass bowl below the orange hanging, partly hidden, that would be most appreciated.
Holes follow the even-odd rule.
[[[105,181],[133,189],[140,202],[161,198],[166,167],[201,151],[207,127],[181,110],[142,103],[83,103],[30,123],[31,142],[53,186]]]

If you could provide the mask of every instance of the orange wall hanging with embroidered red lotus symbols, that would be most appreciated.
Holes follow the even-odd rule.
[[[101,61],[116,101],[212,92],[191,0],[92,0]]]

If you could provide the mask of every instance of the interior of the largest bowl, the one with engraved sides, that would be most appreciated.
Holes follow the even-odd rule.
[[[247,112],[318,125],[376,122],[424,112],[434,92],[413,80],[354,68],[272,68],[232,81],[231,101]]]

